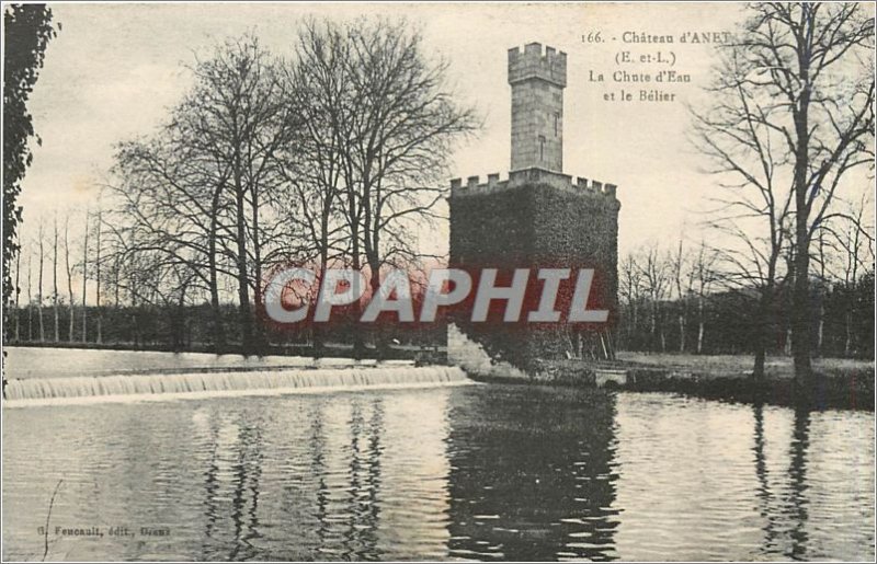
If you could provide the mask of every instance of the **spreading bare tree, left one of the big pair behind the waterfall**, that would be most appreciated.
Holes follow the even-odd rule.
[[[116,152],[109,260],[143,255],[151,264],[158,254],[164,267],[191,274],[186,290],[209,293],[217,350],[226,343],[220,277],[237,280],[242,349],[252,353],[264,339],[252,309],[262,300],[262,269],[283,257],[280,234],[289,234],[278,203],[291,176],[278,154],[295,152],[300,108],[278,69],[252,36],[219,45],[192,68],[193,89],[158,134]],[[147,284],[140,269],[126,272],[134,278],[117,286],[137,301],[169,290]]]

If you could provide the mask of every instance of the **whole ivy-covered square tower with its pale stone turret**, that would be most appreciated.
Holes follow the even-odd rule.
[[[562,171],[567,55],[538,43],[523,53],[510,49],[509,83],[511,170],[505,180],[488,174],[483,183],[478,176],[451,181],[451,266],[593,268],[589,307],[608,309],[610,323],[467,324],[464,311],[457,324],[494,358],[527,370],[540,370],[546,359],[586,357],[585,349],[591,357],[611,358],[620,204],[614,184],[573,180]]]

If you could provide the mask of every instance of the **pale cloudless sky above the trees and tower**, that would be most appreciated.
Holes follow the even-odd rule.
[[[192,84],[185,66],[196,54],[208,54],[225,37],[254,32],[273,53],[289,55],[306,15],[385,15],[421,28],[426,53],[447,60],[457,100],[474,104],[483,117],[480,134],[458,146],[448,180],[508,173],[508,49],[539,42],[567,53],[563,172],[618,186],[622,254],[681,234],[699,237],[716,181],[702,172],[705,163],[688,140],[685,104],[703,103],[715,47],[677,42],[682,34],[732,32],[742,13],[742,4],[730,3],[49,5],[62,30],[48,46],[30,102],[42,147],[34,147],[23,183],[25,232],[35,218],[81,212],[95,202],[114,143],[149,135],[168,116]],[[596,32],[603,43],[589,42]],[[664,35],[676,43],[625,41]],[[673,65],[642,61],[661,56],[672,57]],[[618,62],[625,57],[631,62]],[[674,70],[690,81],[613,82],[612,73],[619,70],[652,77]],[[601,73],[604,82],[591,80]],[[674,100],[638,101],[639,90],[656,88]],[[622,89],[635,100],[605,101]],[[445,244],[446,228],[441,232],[445,237],[424,244]]]

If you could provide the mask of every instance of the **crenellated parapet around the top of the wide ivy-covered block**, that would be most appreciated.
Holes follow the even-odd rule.
[[[481,194],[492,194],[497,191],[515,188],[525,184],[547,184],[565,192],[570,192],[580,196],[601,196],[615,199],[617,186],[615,184],[604,184],[595,180],[588,180],[581,176],[573,180],[569,174],[546,171],[543,169],[526,169],[523,171],[512,171],[509,177],[500,180],[498,173],[488,174],[487,182],[481,183],[479,176],[469,176],[466,184],[463,179],[451,181],[451,197],[465,197]]]

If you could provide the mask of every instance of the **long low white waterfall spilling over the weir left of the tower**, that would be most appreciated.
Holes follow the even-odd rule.
[[[471,383],[458,367],[369,367],[9,380],[8,407],[168,401]]]

